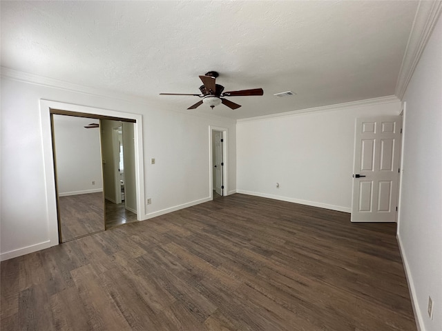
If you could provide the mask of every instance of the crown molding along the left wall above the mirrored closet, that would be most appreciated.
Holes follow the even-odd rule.
[[[126,94],[122,92],[115,92],[111,90],[105,90],[100,88],[91,88],[89,86],[82,86],[75,83],[69,83],[68,81],[61,81],[59,79],[53,79],[49,77],[39,76],[38,74],[30,74],[29,72],[22,72],[6,67],[0,67],[0,76],[6,79],[12,79],[15,81],[22,81],[24,83],[31,83],[37,86],[45,86],[48,88],[56,88],[58,90],[66,90],[69,92],[76,92],[81,94],[88,94],[94,97],[104,97],[107,99],[126,101],[130,103],[138,103],[143,106],[148,106],[149,109],[157,110],[169,110],[171,112],[178,112],[180,114],[186,114],[187,116],[202,117],[204,119],[213,119],[217,121],[228,121],[236,123],[236,119],[229,117],[222,117],[215,114],[204,114],[202,112],[189,112],[186,110],[177,110],[170,107],[165,107],[164,104],[151,101],[146,98],[137,97],[132,94]]]

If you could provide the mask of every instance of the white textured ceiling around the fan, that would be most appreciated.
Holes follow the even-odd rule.
[[[394,94],[418,1],[1,1],[1,66],[185,110],[220,72],[247,117]],[[292,97],[273,94],[291,90]]]

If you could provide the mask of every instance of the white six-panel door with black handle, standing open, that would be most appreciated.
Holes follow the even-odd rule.
[[[352,222],[394,222],[401,117],[356,119]]]

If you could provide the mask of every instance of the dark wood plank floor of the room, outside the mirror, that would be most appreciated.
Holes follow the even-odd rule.
[[[1,330],[416,330],[394,223],[233,194],[1,262]]]

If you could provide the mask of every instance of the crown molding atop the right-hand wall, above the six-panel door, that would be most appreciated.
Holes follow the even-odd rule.
[[[396,91],[394,94],[399,99],[403,98],[408,83],[412,79],[422,52],[430,39],[431,33],[441,16],[442,1],[419,1],[416,15],[414,16],[410,37],[408,37],[407,48],[402,59],[401,70],[399,71]]]

